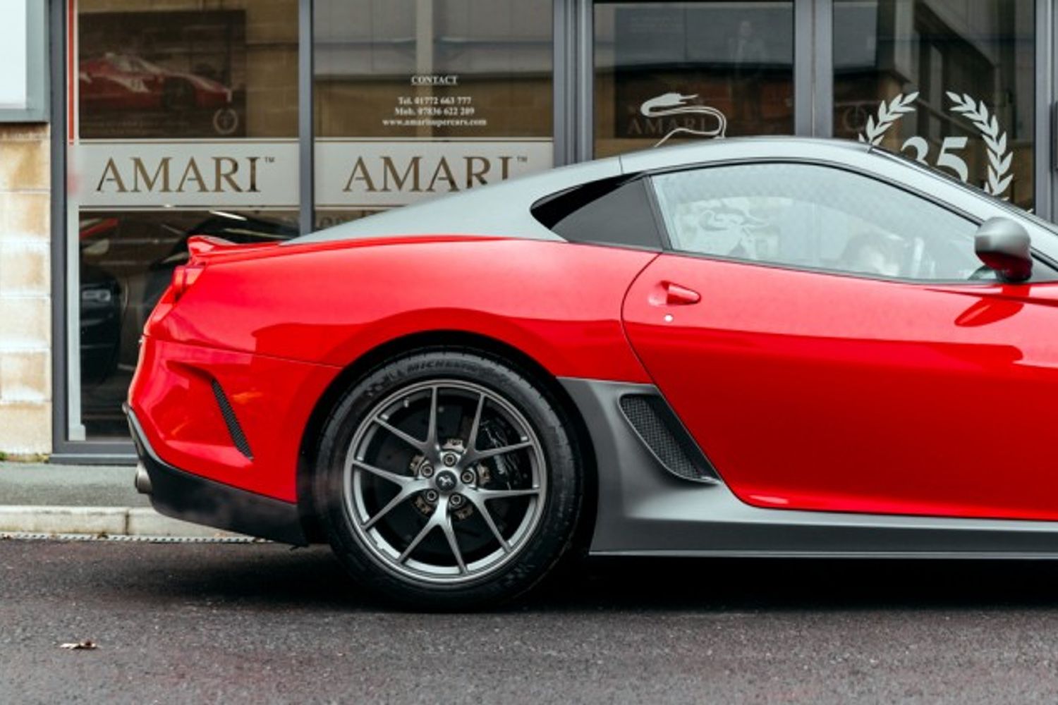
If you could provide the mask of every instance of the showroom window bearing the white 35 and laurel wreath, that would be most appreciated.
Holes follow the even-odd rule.
[[[835,0],[834,134],[1034,206],[1033,0]]]

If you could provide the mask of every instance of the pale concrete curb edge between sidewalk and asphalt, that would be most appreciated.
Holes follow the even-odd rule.
[[[164,517],[149,507],[131,506],[0,506],[0,532],[179,538],[242,536]]]

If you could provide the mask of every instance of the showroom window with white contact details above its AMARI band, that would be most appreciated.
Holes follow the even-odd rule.
[[[316,0],[316,226],[549,168],[551,18],[551,0]]]

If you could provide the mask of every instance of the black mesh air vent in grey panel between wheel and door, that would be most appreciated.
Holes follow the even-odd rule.
[[[621,413],[667,470],[696,482],[719,482],[709,459],[660,396],[625,394]]]

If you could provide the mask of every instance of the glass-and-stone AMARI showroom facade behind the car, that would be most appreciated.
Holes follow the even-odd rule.
[[[0,451],[132,458],[121,405],[140,331],[190,235],[291,238],[553,166],[755,134],[872,142],[1055,212],[1054,0],[0,12],[38,2],[26,32],[48,48],[43,118],[0,124]]]

